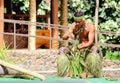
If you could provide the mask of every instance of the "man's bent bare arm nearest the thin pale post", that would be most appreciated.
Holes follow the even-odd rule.
[[[95,28],[93,25],[91,25],[89,29],[89,34],[88,34],[88,42],[82,45],[81,44],[78,45],[78,48],[83,49],[83,48],[91,46],[94,42],[94,37],[95,37]]]

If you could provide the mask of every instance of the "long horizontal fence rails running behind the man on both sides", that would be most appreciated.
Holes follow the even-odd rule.
[[[25,25],[35,25],[35,26],[44,26],[44,27],[48,27],[48,28],[58,28],[58,29],[68,29],[68,27],[66,26],[61,26],[61,25],[57,25],[57,24],[47,24],[47,23],[39,23],[39,22],[30,22],[30,21],[20,21],[20,20],[8,20],[8,19],[0,19],[0,21],[4,21],[4,22],[9,22],[9,23],[18,23],[18,24],[25,24]],[[116,36],[120,36],[120,32],[111,32],[111,31],[100,31],[97,30],[97,33],[101,33],[101,34],[111,34],[111,35],[116,35]],[[14,35],[14,33],[0,33],[0,34],[9,34],[9,35]],[[18,36],[29,36],[29,37],[36,37],[36,38],[42,38],[42,39],[48,39],[48,40],[58,40],[58,41],[65,41],[65,42],[77,42],[75,40],[63,40],[61,38],[52,38],[52,37],[45,37],[45,36],[32,36],[32,35],[28,35],[28,34],[15,34]],[[98,42],[97,44],[101,45],[101,46],[107,46],[107,47],[120,47],[119,44],[107,44],[107,43],[100,43]]]

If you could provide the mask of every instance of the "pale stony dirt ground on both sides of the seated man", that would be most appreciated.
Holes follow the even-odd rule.
[[[9,50],[11,60],[23,68],[46,73],[46,75],[56,74],[56,59],[59,56],[58,50],[38,49],[29,51],[27,49]],[[104,77],[120,77],[120,61],[103,59]]]

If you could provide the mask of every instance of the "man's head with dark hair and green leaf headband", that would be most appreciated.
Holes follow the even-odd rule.
[[[83,25],[84,21],[84,13],[81,11],[75,12],[74,14],[74,21],[76,22],[77,25]]]

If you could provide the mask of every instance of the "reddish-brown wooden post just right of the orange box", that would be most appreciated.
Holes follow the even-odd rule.
[[[51,0],[51,24],[58,24],[58,0]],[[58,27],[52,29],[52,37],[58,38]],[[58,48],[58,41],[52,41],[52,48]]]

